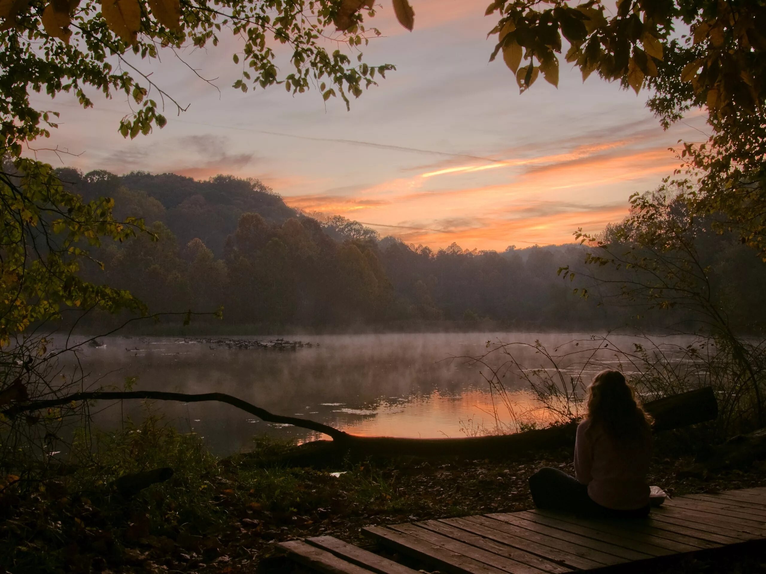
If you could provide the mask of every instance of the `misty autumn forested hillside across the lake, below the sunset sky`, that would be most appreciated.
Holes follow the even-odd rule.
[[[129,289],[151,311],[223,305],[224,323],[266,329],[491,320],[509,329],[573,330],[615,328],[637,316],[631,305],[597,305],[599,292],[585,300],[573,292],[578,282],[562,281],[557,270],[584,259],[584,247],[574,244],[495,252],[453,243],[432,250],[381,239],[343,217],[320,223],[257,180],[58,173],[86,199],[113,197],[117,217],[142,217],[159,235],[105,245],[97,253],[105,269],[86,271]],[[738,245],[724,240],[712,253],[723,265],[745,261]],[[732,309],[747,310],[747,322],[754,305],[764,308],[752,288],[766,278],[739,284],[731,275],[725,273],[728,298]],[[666,311],[643,321],[653,328],[677,318]]]

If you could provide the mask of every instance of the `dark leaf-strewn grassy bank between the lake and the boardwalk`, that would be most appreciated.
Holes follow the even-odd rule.
[[[22,572],[284,571],[274,543],[330,534],[364,543],[368,524],[516,511],[532,507],[527,480],[543,465],[572,471],[571,449],[508,461],[348,462],[342,468],[264,467],[254,454],[216,459],[194,437],[143,427],[116,439],[90,468],[62,468],[42,484],[20,483],[0,496],[0,567]],[[113,439],[114,440],[114,439]],[[691,462],[686,446],[658,442],[650,480],[670,494],[766,485],[766,465],[706,481],[676,478]],[[115,442],[104,439],[112,448]],[[673,446],[673,448],[671,448]],[[175,468],[164,484],[124,499],[109,481],[125,471]],[[332,475],[332,472],[342,474]],[[758,552],[762,552],[760,547]],[[758,572],[758,552],[687,560],[665,572]],[[718,560],[719,562],[716,562]]]

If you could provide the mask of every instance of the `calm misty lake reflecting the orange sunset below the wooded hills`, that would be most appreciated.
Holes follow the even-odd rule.
[[[103,338],[102,347],[81,347],[80,362],[90,386],[122,388],[126,377],[137,377],[135,390],[218,391],[272,413],[315,419],[353,434],[424,438],[458,437],[466,434],[466,428],[481,425],[494,428],[495,412],[509,422],[506,406],[496,393],[490,393],[483,378],[488,374],[486,367],[466,358],[450,359],[481,355],[488,341],[534,344],[539,340],[558,354],[576,351],[561,363],[574,374],[581,370],[583,357],[593,355],[588,349],[598,349],[584,372],[585,380],[601,368],[618,364],[614,345],[603,348],[603,341],[591,341],[585,334],[361,334],[289,339],[312,346],[278,351],[229,349],[200,339]],[[610,341],[632,347],[633,339]],[[519,372],[551,364],[533,347],[515,346],[512,352],[519,364],[512,365],[502,379],[507,398],[517,413],[524,413],[525,422],[545,422],[549,416],[538,409]],[[509,357],[495,353],[488,360],[497,367]],[[147,409],[140,401],[105,406],[99,406],[96,416],[103,427],[117,426],[127,416],[140,419]],[[198,432],[219,454],[247,449],[256,434],[299,441],[319,438],[303,429],[254,419],[221,403],[159,402],[149,409],[163,413],[180,429]]]

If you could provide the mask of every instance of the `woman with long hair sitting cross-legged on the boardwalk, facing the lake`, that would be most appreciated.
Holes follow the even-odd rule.
[[[575,475],[541,468],[529,478],[535,506],[594,517],[646,517],[650,418],[618,370],[588,386],[588,416],[577,429]]]

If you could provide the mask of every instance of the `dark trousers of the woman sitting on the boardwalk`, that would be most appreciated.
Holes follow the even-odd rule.
[[[637,510],[614,510],[594,502],[588,496],[588,486],[558,470],[541,468],[529,477],[529,490],[535,506],[545,510],[561,510],[587,517],[644,518],[649,505]]]

